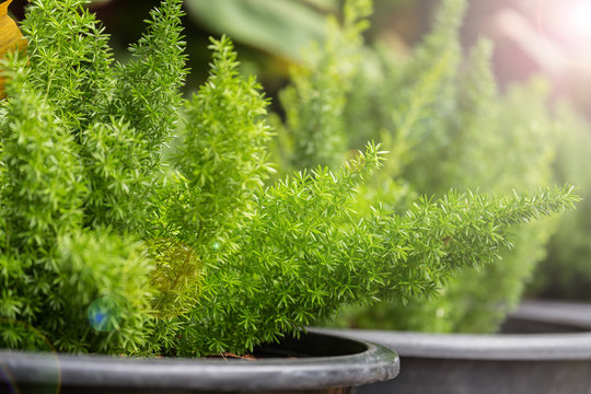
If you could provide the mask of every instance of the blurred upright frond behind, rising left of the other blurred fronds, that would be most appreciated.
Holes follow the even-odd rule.
[[[345,104],[355,88],[352,77],[362,65],[362,33],[371,13],[371,0],[347,2],[341,23],[328,19],[323,46],[314,45],[303,63],[292,67],[291,83],[280,93],[286,121],[282,126],[276,121],[286,170],[335,169],[343,163]]]

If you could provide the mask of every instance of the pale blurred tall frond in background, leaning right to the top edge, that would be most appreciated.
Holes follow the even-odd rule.
[[[382,129],[392,134],[392,175],[424,178],[437,167],[425,155],[449,143],[443,123],[456,113],[455,81],[462,60],[459,28],[466,7],[465,0],[442,1],[432,32],[409,63],[386,68],[381,100],[389,111]]]

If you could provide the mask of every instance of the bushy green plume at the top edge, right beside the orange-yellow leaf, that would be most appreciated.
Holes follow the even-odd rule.
[[[86,3],[35,0],[22,23],[34,70],[28,80],[76,137],[97,116],[104,116],[113,85],[108,35]]]

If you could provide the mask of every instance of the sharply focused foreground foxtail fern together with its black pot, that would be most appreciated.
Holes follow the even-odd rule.
[[[292,385],[265,385],[270,361],[176,357],[245,355],[280,339],[291,348],[299,336],[314,349],[325,338],[302,334],[306,325],[348,303],[430,293],[457,268],[495,260],[513,224],[576,200],[568,188],[449,193],[404,216],[379,206],[358,215],[356,190],[382,163],[373,143],[340,170],[267,186],[267,100],[240,76],[230,39],[212,39],[210,78],[184,100],[179,0],[152,12],[126,63],[84,3],[33,1],[26,56],[3,63],[0,364],[23,390],[56,374],[62,392],[393,378],[393,352],[344,339],[317,381],[302,379],[318,371],[309,360],[279,361]],[[351,349],[371,360],[344,360]],[[335,363],[355,368],[335,374]],[[244,380],[231,385],[223,376],[234,372]]]

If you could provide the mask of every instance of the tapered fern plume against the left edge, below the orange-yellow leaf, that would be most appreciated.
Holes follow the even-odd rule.
[[[53,239],[82,221],[86,189],[73,137],[40,94],[31,93],[23,61],[14,59],[2,120],[2,243],[7,251],[47,254]],[[33,91],[34,92],[34,91]]]

